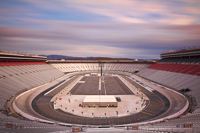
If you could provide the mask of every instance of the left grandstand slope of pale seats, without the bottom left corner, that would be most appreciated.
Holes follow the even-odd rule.
[[[20,90],[28,90],[33,87],[42,85],[49,81],[52,81],[63,73],[59,70],[53,68],[48,64],[34,65],[20,64],[14,66],[0,66],[0,99],[2,109],[2,104],[5,100],[9,99],[10,96],[15,95]]]

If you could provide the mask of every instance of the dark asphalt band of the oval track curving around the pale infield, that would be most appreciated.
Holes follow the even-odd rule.
[[[90,88],[87,89],[90,90]],[[112,89],[115,89],[115,87]],[[121,91],[121,89],[117,90]],[[141,91],[150,99],[150,102],[147,101],[146,103],[146,108],[137,114],[132,114],[123,117],[116,116],[104,118],[88,118],[62,112],[61,110],[54,110],[53,105],[50,102],[53,95],[44,95],[46,91],[39,94],[33,100],[32,107],[37,113],[41,114],[42,116],[48,119],[64,123],[81,125],[122,125],[154,120],[163,116],[163,114],[165,114],[165,112],[170,107],[169,100],[157,91],[153,91],[153,93],[151,93],[144,88],[141,88]],[[124,92],[126,92],[126,89],[124,90]]]

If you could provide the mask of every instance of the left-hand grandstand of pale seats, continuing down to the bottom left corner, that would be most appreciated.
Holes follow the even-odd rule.
[[[5,115],[5,103],[20,91],[37,87],[63,75],[63,72],[43,62],[0,63],[0,130],[8,129],[8,131],[12,132],[13,128],[23,128],[24,130],[24,128],[50,127],[48,124],[19,120]],[[56,126],[54,127],[56,128]],[[19,131],[23,130],[20,129]]]

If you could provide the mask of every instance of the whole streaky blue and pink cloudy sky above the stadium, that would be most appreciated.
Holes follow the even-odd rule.
[[[152,59],[199,46],[199,0],[0,2],[0,50]]]

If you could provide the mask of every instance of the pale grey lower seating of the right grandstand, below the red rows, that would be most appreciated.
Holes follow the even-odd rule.
[[[178,72],[171,72],[166,71],[164,68],[160,70],[161,66],[168,66],[168,64],[159,64],[159,67],[150,66],[138,73],[139,76],[162,84],[164,86],[168,86],[175,90],[182,90],[182,89],[190,89],[191,91],[188,94],[194,96],[197,100],[197,103],[200,103],[200,77],[199,75],[192,75],[192,74],[185,74],[185,73],[178,73]],[[171,66],[172,64],[170,64]],[[174,64],[177,65],[177,64]],[[167,68],[167,67],[166,67]],[[198,105],[200,107],[200,105]]]

